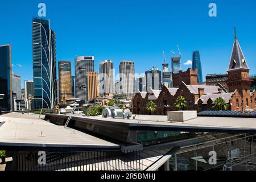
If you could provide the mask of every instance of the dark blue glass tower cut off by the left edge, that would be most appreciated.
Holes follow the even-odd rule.
[[[13,84],[11,79],[11,45],[0,46],[0,113],[13,110]],[[4,96],[3,96],[4,94]]]

